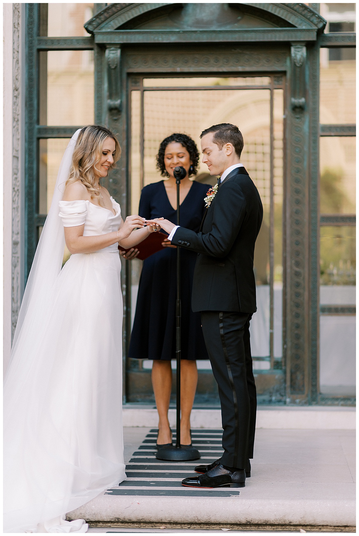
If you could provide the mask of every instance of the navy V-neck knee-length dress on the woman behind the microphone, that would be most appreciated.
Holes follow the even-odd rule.
[[[208,184],[193,181],[180,206],[180,224],[199,232],[205,211]],[[147,220],[167,219],[177,223],[164,181],[148,184],[141,192],[139,215]],[[167,236],[164,235],[163,238]],[[163,248],[144,260],[138,287],[136,314],[129,357],[176,359],[176,265],[177,249]],[[181,358],[209,359],[201,328],[200,312],[191,307],[193,271],[197,254],[181,248]]]

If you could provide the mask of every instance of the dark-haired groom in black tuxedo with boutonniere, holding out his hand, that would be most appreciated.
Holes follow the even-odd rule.
[[[192,309],[201,311],[202,329],[221,401],[223,456],[195,468],[198,477],[183,486],[244,487],[256,426],[256,386],[252,372],[249,322],[256,311],[253,273],[255,242],[263,218],[259,193],[240,161],[243,137],[229,123],[201,135],[202,161],[220,175],[209,192],[200,232],[159,220],[171,244],[198,254]],[[211,195],[212,193],[212,195]],[[213,196],[214,194],[214,196]]]

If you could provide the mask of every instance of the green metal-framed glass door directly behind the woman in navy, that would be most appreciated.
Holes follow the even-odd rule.
[[[207,125],[241,125],[245,140],[242,162],[260,192],[264,221],[255,252],[258,311],[251,325],[253,367],[258,401],[280,403],[285,397],[282,367],[282,211],[283,211],[283,88],[285,77],[264,76],[129,76],[131,213],[138,211],[141,189],[161,180],[155,157],[161,140],[185,132],[198,143]],[[213,185],[200,165],[195,180]],[[129,331],[131,331],[141,261],[132,260]],[[209,361],[199,361],[195,404],[218,404],[218,389]],[[175,366],[175,363],[173,362]],[[154,401],[152,362],[128,360],[127,397]],[[174,382],[175,385],[175,382]]]

